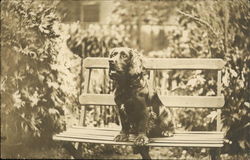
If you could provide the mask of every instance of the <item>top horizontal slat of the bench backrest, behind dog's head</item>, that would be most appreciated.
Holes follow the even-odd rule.
[[[222,69],[225,62],[222,59],[207,58],[146,58],[146,69]],[[84,60],[86,68],[109,68],[108,58],[88,57]]]

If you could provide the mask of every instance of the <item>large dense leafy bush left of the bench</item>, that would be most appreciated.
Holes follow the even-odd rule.
[[[59,37],[55,6],[1,1],[1,135],[11,144],[34,145],[38,138],[46,144],[64,128],[65,94],[53,68]]]

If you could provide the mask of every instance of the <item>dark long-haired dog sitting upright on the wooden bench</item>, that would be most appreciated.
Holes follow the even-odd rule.
[[[125,47],[112,49],[109,76],[114,81],[115,102],[122,124],[115,141],[128,141],[129,135],[133,134],[136,135],[134,143],[144,146],[148,137],[173,131],[170,112],[160,113],[162,102],[149,85],[143,57],[138,51]]]

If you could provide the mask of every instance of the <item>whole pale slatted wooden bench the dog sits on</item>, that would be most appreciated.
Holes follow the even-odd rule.
[[[84,60],[84,91],[79,97],[80,104],[86,105],[115,105],[114,96],[111,94],[88,93],[93,69],[108,69],[108,58],[86,58]],[[151,138],[148,146],[151,147],[204,147],[211,148],[211,158],[219,159],[219,148],[224,144],[224,132],[221,131],[221,108],[224,105],[224,97],[221,95],[221,69],[224,61],[221,59],[193,59],[193,58],[147,58],[145,67],[149,70],[149,80],[153,83],[155,70],[216,70],[217,71],[217,95],[216,96],[167,96],[160,95],[164,106],[180,108],[215,108],[217,111],[216,131],[185,131],[176,132],[173,137]],[[85,117],[80,118],[80,124]],[[120,128],[97,128],[73,126],[66,131],[53,136],[54,140],[65,141],[65,147],[74,158],[80,158],[81,154],[70,142],[133,145],[133,142],[115,142],[115,135]]]

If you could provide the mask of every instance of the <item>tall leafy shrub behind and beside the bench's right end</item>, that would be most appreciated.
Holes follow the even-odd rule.
[[[213,10],[213,12],[208,11],[208,9]],[[215,35],[208,29],[208,26],[197,23],[192,18],[182,16],[179,21],[184,27],[181,33],[188,31],[188,40],[180,42],[183,35],[175,36],[174,34],[174,37],[180,37],[180,40],[175,41],[175,44],[173,43],[174,47],[172,45],[168,47],[168,50],[173,51],[170,56],[178,56],[178,53],[174,53],[178,51],[179,53],[190,54],[184,55],[184,57],[223,58],[227,62],[222,78],[226,102],[222,110],[222,116],[223,130],[227,132],[227,138],[232,141],[232,144],[227,144],[225,151],[230,153],[247,151],[250,147],[247,138],[249,133],[248,112],[250,109],[250,57],[249,36],[246,34],[250,31],[250,19],[247,16],[249,5],[246,1],[202,1],[196,5],[189,1],[182,6],[182,10],[189,15],[207,21],[215,31]],[[227,19],[228,24],[226,25]],[[225,28],[228,30],[227,36],[225,36]],[[174,37],[170,37],[171,41],[175,40]],[[203,76],[207,79],[209,75],[204,72]],[[181,88],[185,88],[187,91],[189,89],[188,83]],[[209,88],[213,89],[210,93],[215,92],[214,83],[209,83],[209,81],[203,87],[203,92]],[[198,87],[198,89],[201,89],[201,87]],[[195,126],[197,122],[197,118],[194,118],[190,124]]]

